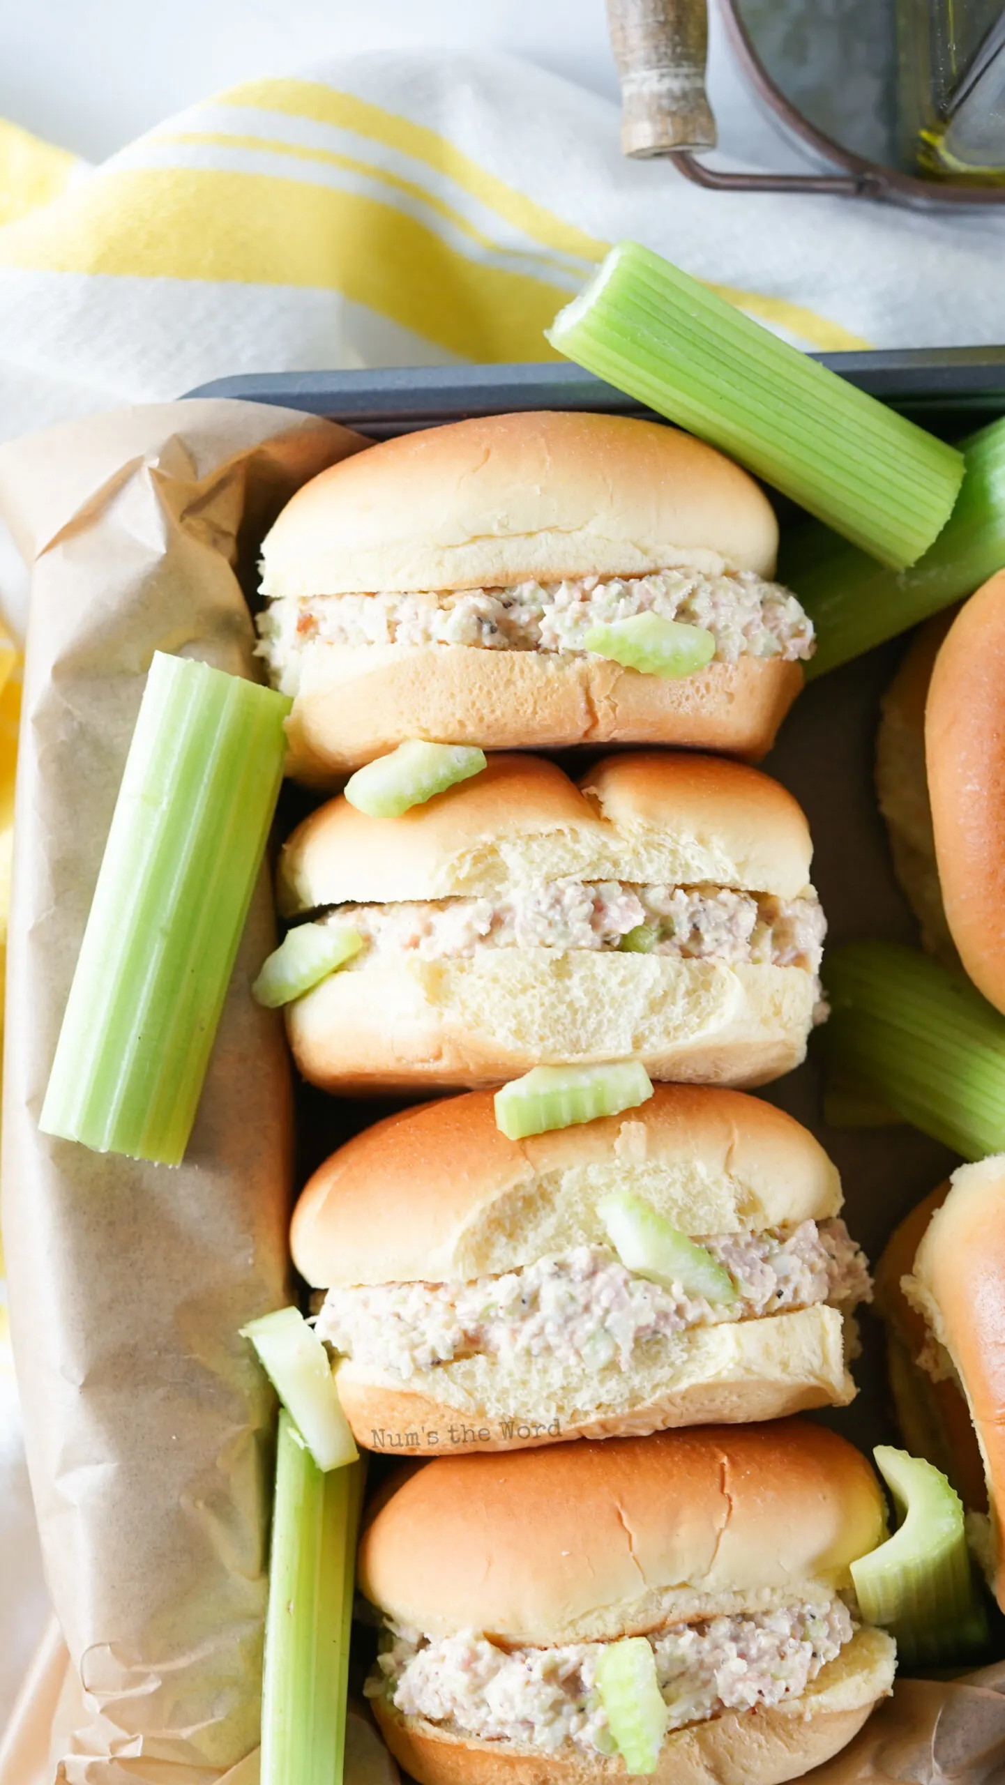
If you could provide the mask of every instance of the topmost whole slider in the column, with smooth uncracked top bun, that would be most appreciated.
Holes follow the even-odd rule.
[[[812,655],[777,546],[753,478],[655,421],[487,416],[345,459],[262,544],[289,773],[330,785],[412,737],[757,759]]]

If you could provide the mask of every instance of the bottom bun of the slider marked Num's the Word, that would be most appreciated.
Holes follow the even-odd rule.
[[[828,1307],[652,1339],[632,1369],[577,1373],[527,1355],[503,1367],[494,1357],[466,1357],[402,1383],[343,1358],[336,1380],[357,1442],[409,1457],[748,1424],[855,1396],[843,1317]]]

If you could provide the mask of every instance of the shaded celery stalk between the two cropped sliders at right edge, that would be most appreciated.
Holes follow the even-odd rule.
[[[1005,1150],[1005,1017],[916,948],[850,942],[825,962],[828,1067],[964,1158]]]

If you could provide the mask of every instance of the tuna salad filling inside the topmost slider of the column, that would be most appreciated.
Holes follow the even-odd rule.
[[[660,569],[648,577],[575,577],[503,589],[407,594],[280,596],[259,618],[259,653],[296,694],[307,646],[468,644],[487,652],[586,652],[594,625],[659,614],[702,627],[716,660],[812,657],[814,628],[794,594],[753,571]]]

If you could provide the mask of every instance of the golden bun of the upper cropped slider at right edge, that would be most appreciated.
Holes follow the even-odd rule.
[[[925,755],[946,921],[1005,1010],[1005,571],[964,602],[935,659]]]

